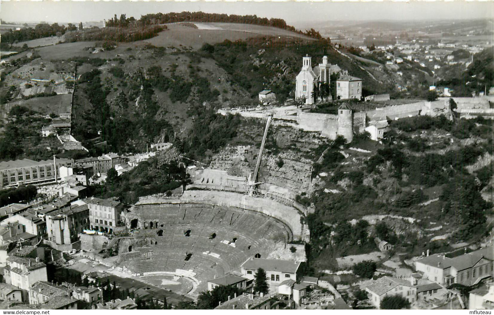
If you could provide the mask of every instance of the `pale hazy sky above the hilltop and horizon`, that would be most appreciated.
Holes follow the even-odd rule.
[[[114,14],[139,18],[157,12],[203,11],[283,18],[295,27],[308,21],[490,18],[494,1],[260,2],[260,1],[5,1],[0,16],[13,22],[86,22]]]

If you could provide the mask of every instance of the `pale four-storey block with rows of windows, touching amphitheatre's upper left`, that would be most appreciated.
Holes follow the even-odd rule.
[[[120,221],[124,204],[113,199],[86,198],[83,200],[89,207],[89,225],[91,230],[113,233],[113,228]]]

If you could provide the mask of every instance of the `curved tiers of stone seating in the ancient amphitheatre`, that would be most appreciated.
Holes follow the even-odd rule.
[[[131,211],[141,227],[133,233],[135,243],[150,245],[133,245],[131,252],[123,246],[121,264],[136,274],[192,270],[200,281],[197,292],[206,289],[208,279],[238,270],[255,254],[267,257],[277,242],[292,237],[279,220],[235,207],[164,203],[137,205]],[[192,254],[189,260],[187,254]]]

